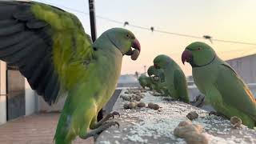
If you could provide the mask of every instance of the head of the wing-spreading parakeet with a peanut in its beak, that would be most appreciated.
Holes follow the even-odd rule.
[[[113,28],[106,30],[102,35],[121,51],[122,54],[130,55],[131,59],[136,60],[141,51],[140,43],[130,30]],[[132,50],[134,48],[134,50]]]

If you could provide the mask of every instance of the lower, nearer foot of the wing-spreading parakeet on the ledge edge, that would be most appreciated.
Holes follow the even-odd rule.
[[[86,138],[90,138],[90,137],[97,138],[98,135],[102,133],[102,131],[110,128],[111,126],[118,126],[118,128],[119,128],[119,123],[118,122],[104,122],[102,124],[102,126],[99,126],[97,129],[90,130],[90,132],[85,135],[79,135],[79,137],[82,139],[86,139]]]

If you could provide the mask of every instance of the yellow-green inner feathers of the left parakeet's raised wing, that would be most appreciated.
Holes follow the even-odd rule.
[[[35,3],[31,9],[36,18],[47,22],[51,27],[55,70],[62,88],[70,90],[81,75],[86,74],[83,63],[90,62],[93,58],[90,37],[74,14],[42,3]]]

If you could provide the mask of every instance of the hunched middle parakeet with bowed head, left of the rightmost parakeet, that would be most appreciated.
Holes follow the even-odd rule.
[[[170,97],[189,103],[186,77],[178,64],[167,55],[161,54],[154,58],[154,67],[164,71]]]

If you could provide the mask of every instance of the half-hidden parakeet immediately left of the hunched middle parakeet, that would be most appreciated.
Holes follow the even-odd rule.
[[[169,95],[162,69],[156,69],[154,66],[150,66],[147,70],[147,74],[152,78],[154,90],[160,94],[165,94],[166,96]]]

